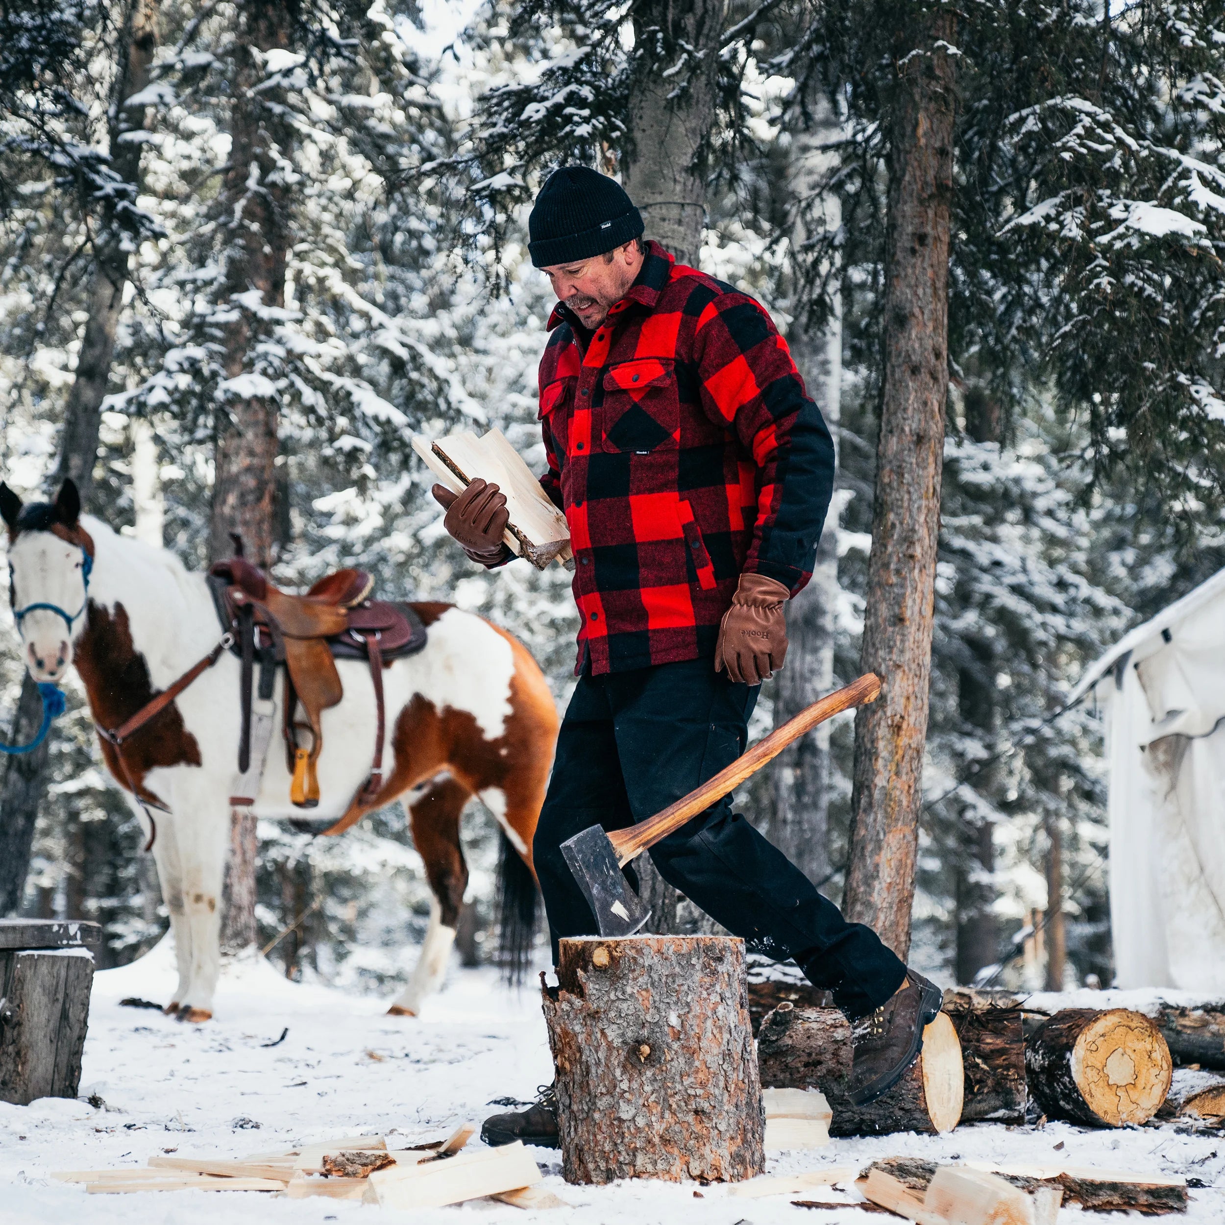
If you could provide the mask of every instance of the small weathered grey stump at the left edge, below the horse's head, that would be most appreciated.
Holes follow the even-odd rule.
[[[75,1098],[96,922],[0,919],[0,1101]]]

